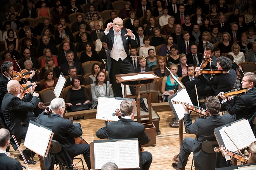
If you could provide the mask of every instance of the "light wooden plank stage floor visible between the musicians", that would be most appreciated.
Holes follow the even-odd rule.
[[[172,163],[174,162],[173,157],[179,153],[179,128],[171,128],[169,126],[169,123],[171,122],[171,119],[174,118],[173,114],[171,111],[160,111],[157,112],[160,116],[160,121],[159,121],[159,129],[161,131],[161,134],[156,136],[156,146],[148,146],[144,147],[145,151],[149,151],[153,155],[153,161],[150,166],[150,170],[173,170],[172,168]],[[193,121],[195,118],[198,117],[197,114],[192,115]],[[76,121],[74,121],[76,122]],[[102,128],[105,126],[105,122],[102,120],[96,120],[96,119],[87,119],[87,120],[80,120],[79,121],[82,124],[83,128],[83,139],[87,141],[88,143],[93,142],[93,140],[99,140],[95,136],[96,131],[99,128]],[[195,135],[192,134],[186,134],[185,129],[183,126],[183,137],[192,137],[195,138]],[[12,147],[11,148],[11,154],[12,157],[14,158],[15,156],[19,156],[19,153],[17,151],[13,151]],[[24,149],[24,147],[21,146],[21,148]],[[192,156],[193,153],[190,155],[190,160],[187,163],[186,169],[190,169],[191,167],[191,162],[192,162]],[[81,158],[83,156],[80,155]],[[40,170],[40,164],[38,162],[38,155],[34,157],[36,160],[35,165],[30,165],[30,167],[33,170]],[[17,158],[19,160],[19,158]],[[20,160],[19,160],[20,161]],[[23,161],[20,161],[23,164]],[[74,163],[76,160],[74,161]],[[84,161],[85,164],[85,161]],[[81,168],[81,163],[78,163],[78,167]],[[86,165],[86,164],[85,164]],[[57,168],[57,167],[55,167]],[[87,170],[87,168],[85,168]],[[193,168],[194,169],[194,168]]]

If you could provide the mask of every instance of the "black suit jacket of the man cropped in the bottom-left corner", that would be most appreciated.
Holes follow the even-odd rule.
[[[4,170],[23,170],[19,161],[10,158],[5,153],[0,153],[0,167]]]

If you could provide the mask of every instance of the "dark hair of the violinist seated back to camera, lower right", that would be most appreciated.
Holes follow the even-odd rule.
[[[217,115],[220,112],[220,100],[215,98],[214,96],[210,96],[208,97],[208,99],[206,99],[205,106],[212,115]]]

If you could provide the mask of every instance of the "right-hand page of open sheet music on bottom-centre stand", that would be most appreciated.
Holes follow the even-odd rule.
[[[138,140],[116,141],[116,165],[118,165],[119,168],[140,167],[138,146]]]

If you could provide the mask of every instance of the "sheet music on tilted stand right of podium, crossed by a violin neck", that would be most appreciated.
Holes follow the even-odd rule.
[[[171,100],[178,101],[178,102],[187,102],[189,104],[192,104],[189,94],[186,89],[182,89],[178,91],[177,95],[173,97]],[[176,114],[178,115],[178,120],[183,119],[185,110],[182,106],[182,104],[173,104],[174,110]]]

